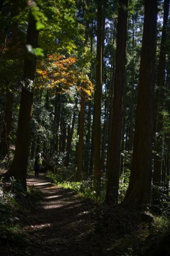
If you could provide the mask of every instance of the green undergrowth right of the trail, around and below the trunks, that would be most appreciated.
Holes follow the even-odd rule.
[[[54,185],[65,189],[72,189],[78,195],[91,198],[96,204],[93,220],[94,239],[100,240],[103,247],[113,252],[113,255],[131,256],[145,255],[144,253],[154,247],[155,241],[161,239],[170,228],[170,204],[166,191],[160,187],[153,186],[151,210],[153,222],[142,219],[141,212],[130,207],[108,206],[105,201],[105,187],[97,198],[93,191],[93,181],[84,180],[81,182],[64,180],[61,172],[56,174],[47,172],[46,176]],[[119,202],[125,196],[130,177],[130,170],[126,169],[120,177]],[[141,217],[140,217],[141,216]],[[146,254],[148,255],[148,254]]]

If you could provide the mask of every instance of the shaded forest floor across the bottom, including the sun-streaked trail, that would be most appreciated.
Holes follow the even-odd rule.
[[[18,212],[18,217],[21,230],[28,236],[0,243],[0,256],[161,255],[146,253],[156,248],[153,239],[159,234],[156,231],[152,235],[154,225],[141,222],[139,212],[96,204],[71,189],[53,186],[44,174],[38,178],[28,175],[27,184],[35,194],[23,197],[23,211]],[[162,255],[170,256],[166,250]]]

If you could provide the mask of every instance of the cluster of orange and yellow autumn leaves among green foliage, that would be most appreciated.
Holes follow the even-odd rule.
[[[47,55],[38,65],[37,76],[38,87],[61,87],[65,91],[75,85],[77,90],[83,90],[89,97],[94,91],[93,84],[88,76],[79,70],[77,59],[73,56],[66,58],[57,53]]]

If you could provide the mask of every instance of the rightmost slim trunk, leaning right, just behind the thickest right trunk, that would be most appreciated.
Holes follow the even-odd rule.
[[[156,109],[155,109],[155,123],[156,133],[158,136],[155,138],[155,157],[154,157],[154,169],[153,169],[153,184],[161,185],[161,160],[162,160],[162,132],[163,132],[163,114],[162,108],[164,104],[164,93],[162,91],[164,87],[165,79],[165,61],[166,61],[166,48],[167,48],[167,22],[170,8],[170,0],[164,0],[164,17],[163,17],[163,27],[161,36],[161,48],[159,54],[159,65],[158,65],[158,75],[157,75],[157,86],[161,88],[161,92],[156,94]]]

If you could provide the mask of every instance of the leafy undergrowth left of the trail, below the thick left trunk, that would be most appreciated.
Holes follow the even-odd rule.
[[[28,192],[14,178],[0,180],[0,245],[24,246],[28,242],[28,234],[20,223],[28,214],[28,205],[40,201],[41,192],[34,187],[28,187]]]

